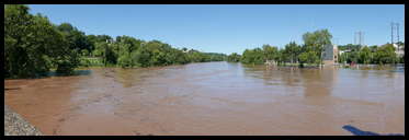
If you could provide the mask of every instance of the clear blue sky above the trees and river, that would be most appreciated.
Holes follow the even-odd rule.
[[[338,45],[390,43],[390,23],[405,40],[404,4],[30,4],[53,23],[71,23],[87,35],[158,39],[177,48],[241,54],[264,44],[283,48],[303,34],[328,28]],[[396,35],[395,35],[396,36]],[[395,40],[396,42],[396,40]]]

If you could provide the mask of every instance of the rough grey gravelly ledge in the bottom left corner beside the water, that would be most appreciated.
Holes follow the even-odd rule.
[[[4,105],[4,136],[42,136],[42,132]]]

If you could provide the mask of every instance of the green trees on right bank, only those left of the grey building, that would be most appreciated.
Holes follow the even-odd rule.
[[[320,63],[323,46],[331,43],[332,35],[328,30],[319,30],[303,35],[304,45],[291,42],[280,49],[276,46],[263,45],[261,48],[246,49],[242,55],[231,54],[228,61],[241,61],[242,63],[261,65],[273,61],[277,65],[286,62],[318,65]]]

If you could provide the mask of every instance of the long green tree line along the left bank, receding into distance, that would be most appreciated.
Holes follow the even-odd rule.
[[[53,24],[23,4],[4,8],[4,77],[33,78],[55,69],[72,74],[75,68],[122,68],[223,61],[224,54],[174,48],[160,40],[132,36],[86,35],[70,23]]]

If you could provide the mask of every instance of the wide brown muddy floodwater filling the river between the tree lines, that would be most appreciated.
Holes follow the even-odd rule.
[[[404,70],[204,62],[4,80],[45,135],[405,133]]]

